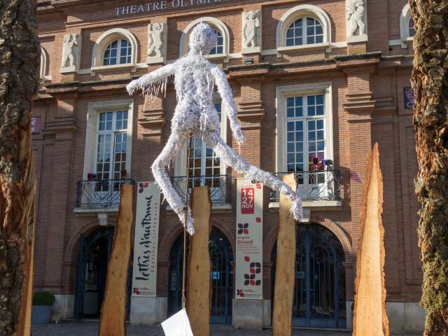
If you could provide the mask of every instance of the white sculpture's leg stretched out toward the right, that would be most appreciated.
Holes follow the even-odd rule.
[[[286,183],[280,181],[276,176],[265,172],[264,170],[251,165],[241,158],[233,148],[225,144],[220,135],[215,132],[209,132],[204,135],[204,141],[209,148],[212,148],[216,155],[223,160],[224,164],[232,167],[237,172],[244,174],[247,179],[255,179],[265,184],[272,190],[288,196],[293,201],[291,212],[296,221],[302,221],[302,202],[300,197]]]

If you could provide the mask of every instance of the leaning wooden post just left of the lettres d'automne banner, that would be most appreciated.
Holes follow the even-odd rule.
[[[116,221],[111,259],[107,268],[106,290],[99,320],[99,336],[126,335],[127,269],[131,255],[134,220],[134,186],[121,186],[120,209]]]

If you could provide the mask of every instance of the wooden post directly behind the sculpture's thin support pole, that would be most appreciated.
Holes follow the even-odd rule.
[[[210,333],[210,254],[211,200],[208,186],[193,188],[192,211],[196,233],[190,237],[188,256],[187,312],[193,335]]]

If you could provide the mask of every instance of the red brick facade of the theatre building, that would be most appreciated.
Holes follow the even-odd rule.
[[[353,300],[353,269],[360,236],[360,197],[365,158],[374,142],[379,143],[384,179],[386,287],[388,302],[419,302],[421,270],[416,239],[417,210],[413,179],[416,174],[412,109],[405,109],[403,88],[409,87],[412,44],[400,45],[400,15],[406,1],[367,1],[367,41],[347,43],[346,1],[267,0],[193,1],[193,6],[116,15],[116,8],[139,1],[38,1],[41,45],[47,62],[41,91],[34,101],[33,116],[41,116],[42,131],[34,135],[37,190],[36,290],[74,294],[78,240],[99,228],[97,213],[75,212],[76,183],[85,180],[85,141],[89,104],[133,99],[132,158],[129,177],[151,181],[151,164],[167,140],[176,104],[174,87],[166,97],[129,97],[125,85],[134,76],[157,69],[146,66],[150,22],[167,24],[167,61],[179,57],[182,32],[193,20],[213,17],[229,32],[228,62],[214,60],[225,69],[246,138],[241,155],[268,172],[276,167],[277,87],[331,83],[332,160],[342,176],[342,204],[311,207],[309,223],[328,228],[344,248],[346,300]],[[159,1],[160,2],[160,1]],[[163,2],[163,1],[162,1]],[[190,3],[190,0],[183,1]],[[330,20],[331,36],[324,48],[302,48],[277,55],[276,29],[290,8],[309,4],[321,8]],[[162,6],[162,5],[160,5]],[[170,7],[171,6],[171,7]],[[163,6],[162,6],[163,7]],[[261,10],[262,52],[241,56],[241,15]],[[134,69],[93,71],[95,42],[105,31],[123,28],[137,40]],[[80,34],[80,65],[77,71],[61,73],[64,34]],[[398,41],[398,42],[397,42]],[[280,57],[279,57],[280,56]],[[253,64],[244,58],[253,57]],[[230,127],[228,144],[233,144]],[[228,169],[228,174],[232,174]],[[222,174],[224,174],[222,172]],[[235,173],[233,173],[235,174]],[[233,189],[235,193],[235,188]],[[263,296],[270,299],[271,253],[276,240],[278,213],[269,209],[269,190],[264,193]],[[235,202],[236,197],[232,195]],[[114,213],[109,216],[113,225]],[[227,236],[235,259],[235,204],[226,212],[212,213],[213,225]],[[160,214],[158,296],[167,296],[169,253],[181,227],[172,211]],[[233,297],[233,295],[232,295]],[[71,316],[66,316],[71,317]]]

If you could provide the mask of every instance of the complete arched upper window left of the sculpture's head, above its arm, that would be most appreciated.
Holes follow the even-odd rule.
[[[131,69],[137,64],[137,39],[123,28],[105,31],[93,46],[92,75],[94,71]]]

